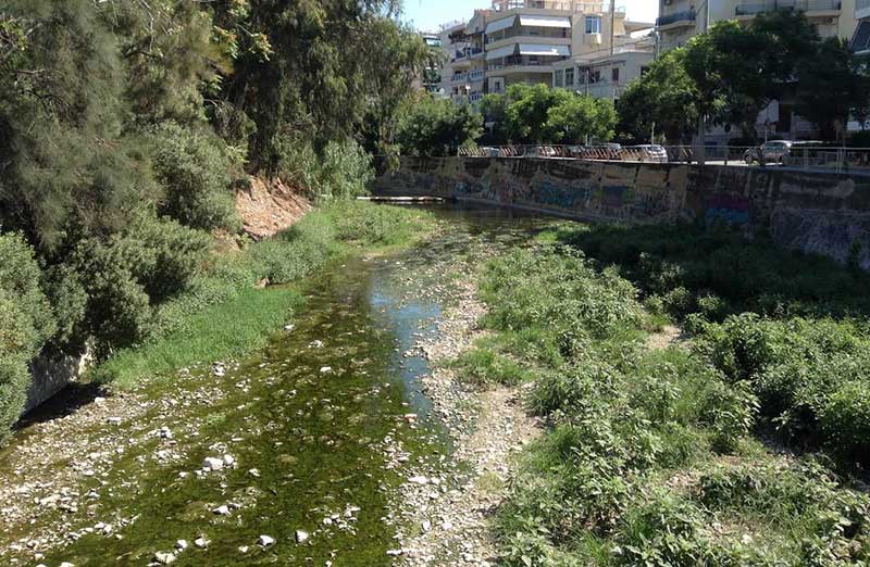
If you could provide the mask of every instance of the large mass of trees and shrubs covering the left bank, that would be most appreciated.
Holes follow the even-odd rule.
[[[14,382],[18,398],[0,401],[0,420],[38,352],[78,354],[94,339],[102,356],[148,340],[162,305],[202,291],[208,232],[240,229],[243,174],[291,176],[319,198],[365,190],[366,150],[390,150],[430,55],[398,8],[3,2],[0,275],[35,255],[30,285],[52,308],[49,326],[29,322],[27,295],[0,277],[5,330],[14,319],[30,337],[4,345],[20,357],[0,360],[0,390]],[[7,245],[22,238],[29,252]]]

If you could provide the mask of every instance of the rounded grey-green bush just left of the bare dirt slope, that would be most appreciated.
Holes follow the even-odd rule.
[[[240,167],[224,141],[212,131],[174,122],[154,126],[148,138],[165,192],[160,213],[192,228],[238,231],[231,175]]]

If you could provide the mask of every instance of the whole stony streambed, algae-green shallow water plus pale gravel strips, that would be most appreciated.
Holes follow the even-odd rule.
[[[477,332],[480,265],[542,223],[442,214],[413,251],[307,280],[256,355],[36,416],[0,454],[0,562],[490,562],[486,518],[535,425],[445,363]]]

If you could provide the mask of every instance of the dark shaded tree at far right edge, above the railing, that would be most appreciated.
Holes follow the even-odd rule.
[[[823,137],[841,140],[850,114],[867,115],[867,63],[844,40],[818,43],[815,55],[799,63],[797,77],[797,112],[812,121]]]

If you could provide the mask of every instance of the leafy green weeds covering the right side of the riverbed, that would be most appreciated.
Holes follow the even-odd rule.
[[[493,335],[457,365],[477,381],[533,378],[529,410],[550,424],[499,511],[501,563],[867,565],[870,497],[832,459],[858,458],[868,438],[863,299],[847,297],[863,276],[809,257],[825,272],[807,281],[849,287],[826,285],[813,299],[796,285],[790,308],[735,316],[763,311],[772,284],[710,289],[698,274],[718,274],[709,264],[721,256],[700,265],[693,232],[669,245],[697,266],[664,269],[674,263],[663,255],[659,268],[643,268],[651,260],[642,244],[667,240],[650,230],[623,240],[604,230],[611,242],[563,228],[484,269]],[[586,257],[583,242],[607,259]],[[780,264],[766,253],[768,274],[797,269],[799,257],[780,253]],[[849,315],[822,323],[797,313]],[[666,315],[695,319],[695,348],[647,346]],[[759,441],[788,424],[783,441],[804,453]]]

